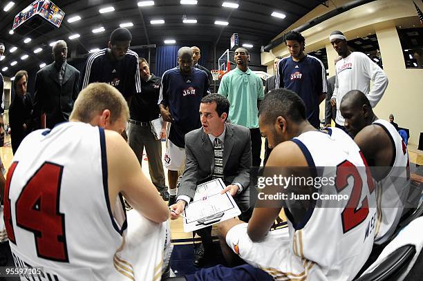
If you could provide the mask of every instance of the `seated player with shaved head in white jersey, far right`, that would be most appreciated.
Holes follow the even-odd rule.
[[[390,122],[377,118],[361,91],[346,93],[340,110],[348,133],[372,167],[377,198],[375,244],[382,244],[395,231],[410,188],[407,147]]]

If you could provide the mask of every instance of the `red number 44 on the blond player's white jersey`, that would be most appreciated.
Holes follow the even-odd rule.
[[[5,188],[4,219],[10,241],[17,244],[9,199],[10,180],[18,162],[10,166]],[[59,212],[63,166],[45,162],[23,186],[16,200],[16,224],[34,233],[39,258],[68,262],[64,214]]]

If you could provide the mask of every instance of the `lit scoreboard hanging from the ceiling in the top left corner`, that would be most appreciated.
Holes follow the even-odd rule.
[[[37,14],[53,24],[53,26],[59,28],[65,13],[50,0],[35,0],[15,16],[12,29],[15,30],[22,23],[28,21],[31,17],[35,17]]]

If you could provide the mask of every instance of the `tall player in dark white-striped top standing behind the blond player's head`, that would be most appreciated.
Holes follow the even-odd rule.
[[[115,88],[130,101],[135,93],[141,93],[138,55],[129,50],[132,35],[126,28],[111,32],[108,48],[88,57],[82,72],[82,89],[93,82],[104,82]]]

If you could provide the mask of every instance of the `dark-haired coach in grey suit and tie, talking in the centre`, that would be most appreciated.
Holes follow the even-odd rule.
[[[249,220],[250,166],[252,166],[250,130],[226,123],[229,101],[221,95],[207,95],[200,104],[202,128],[185,135],[185,172],[178,188],[176,204],[170,206],[175,220],[191,202],[198,184],[221,178],[227,185],[222,191],[234,197],[241,217]],[[196,249],[194,265],[202,266],[205,255],[212,251],[212,226],[197,231],[203,244]]]

